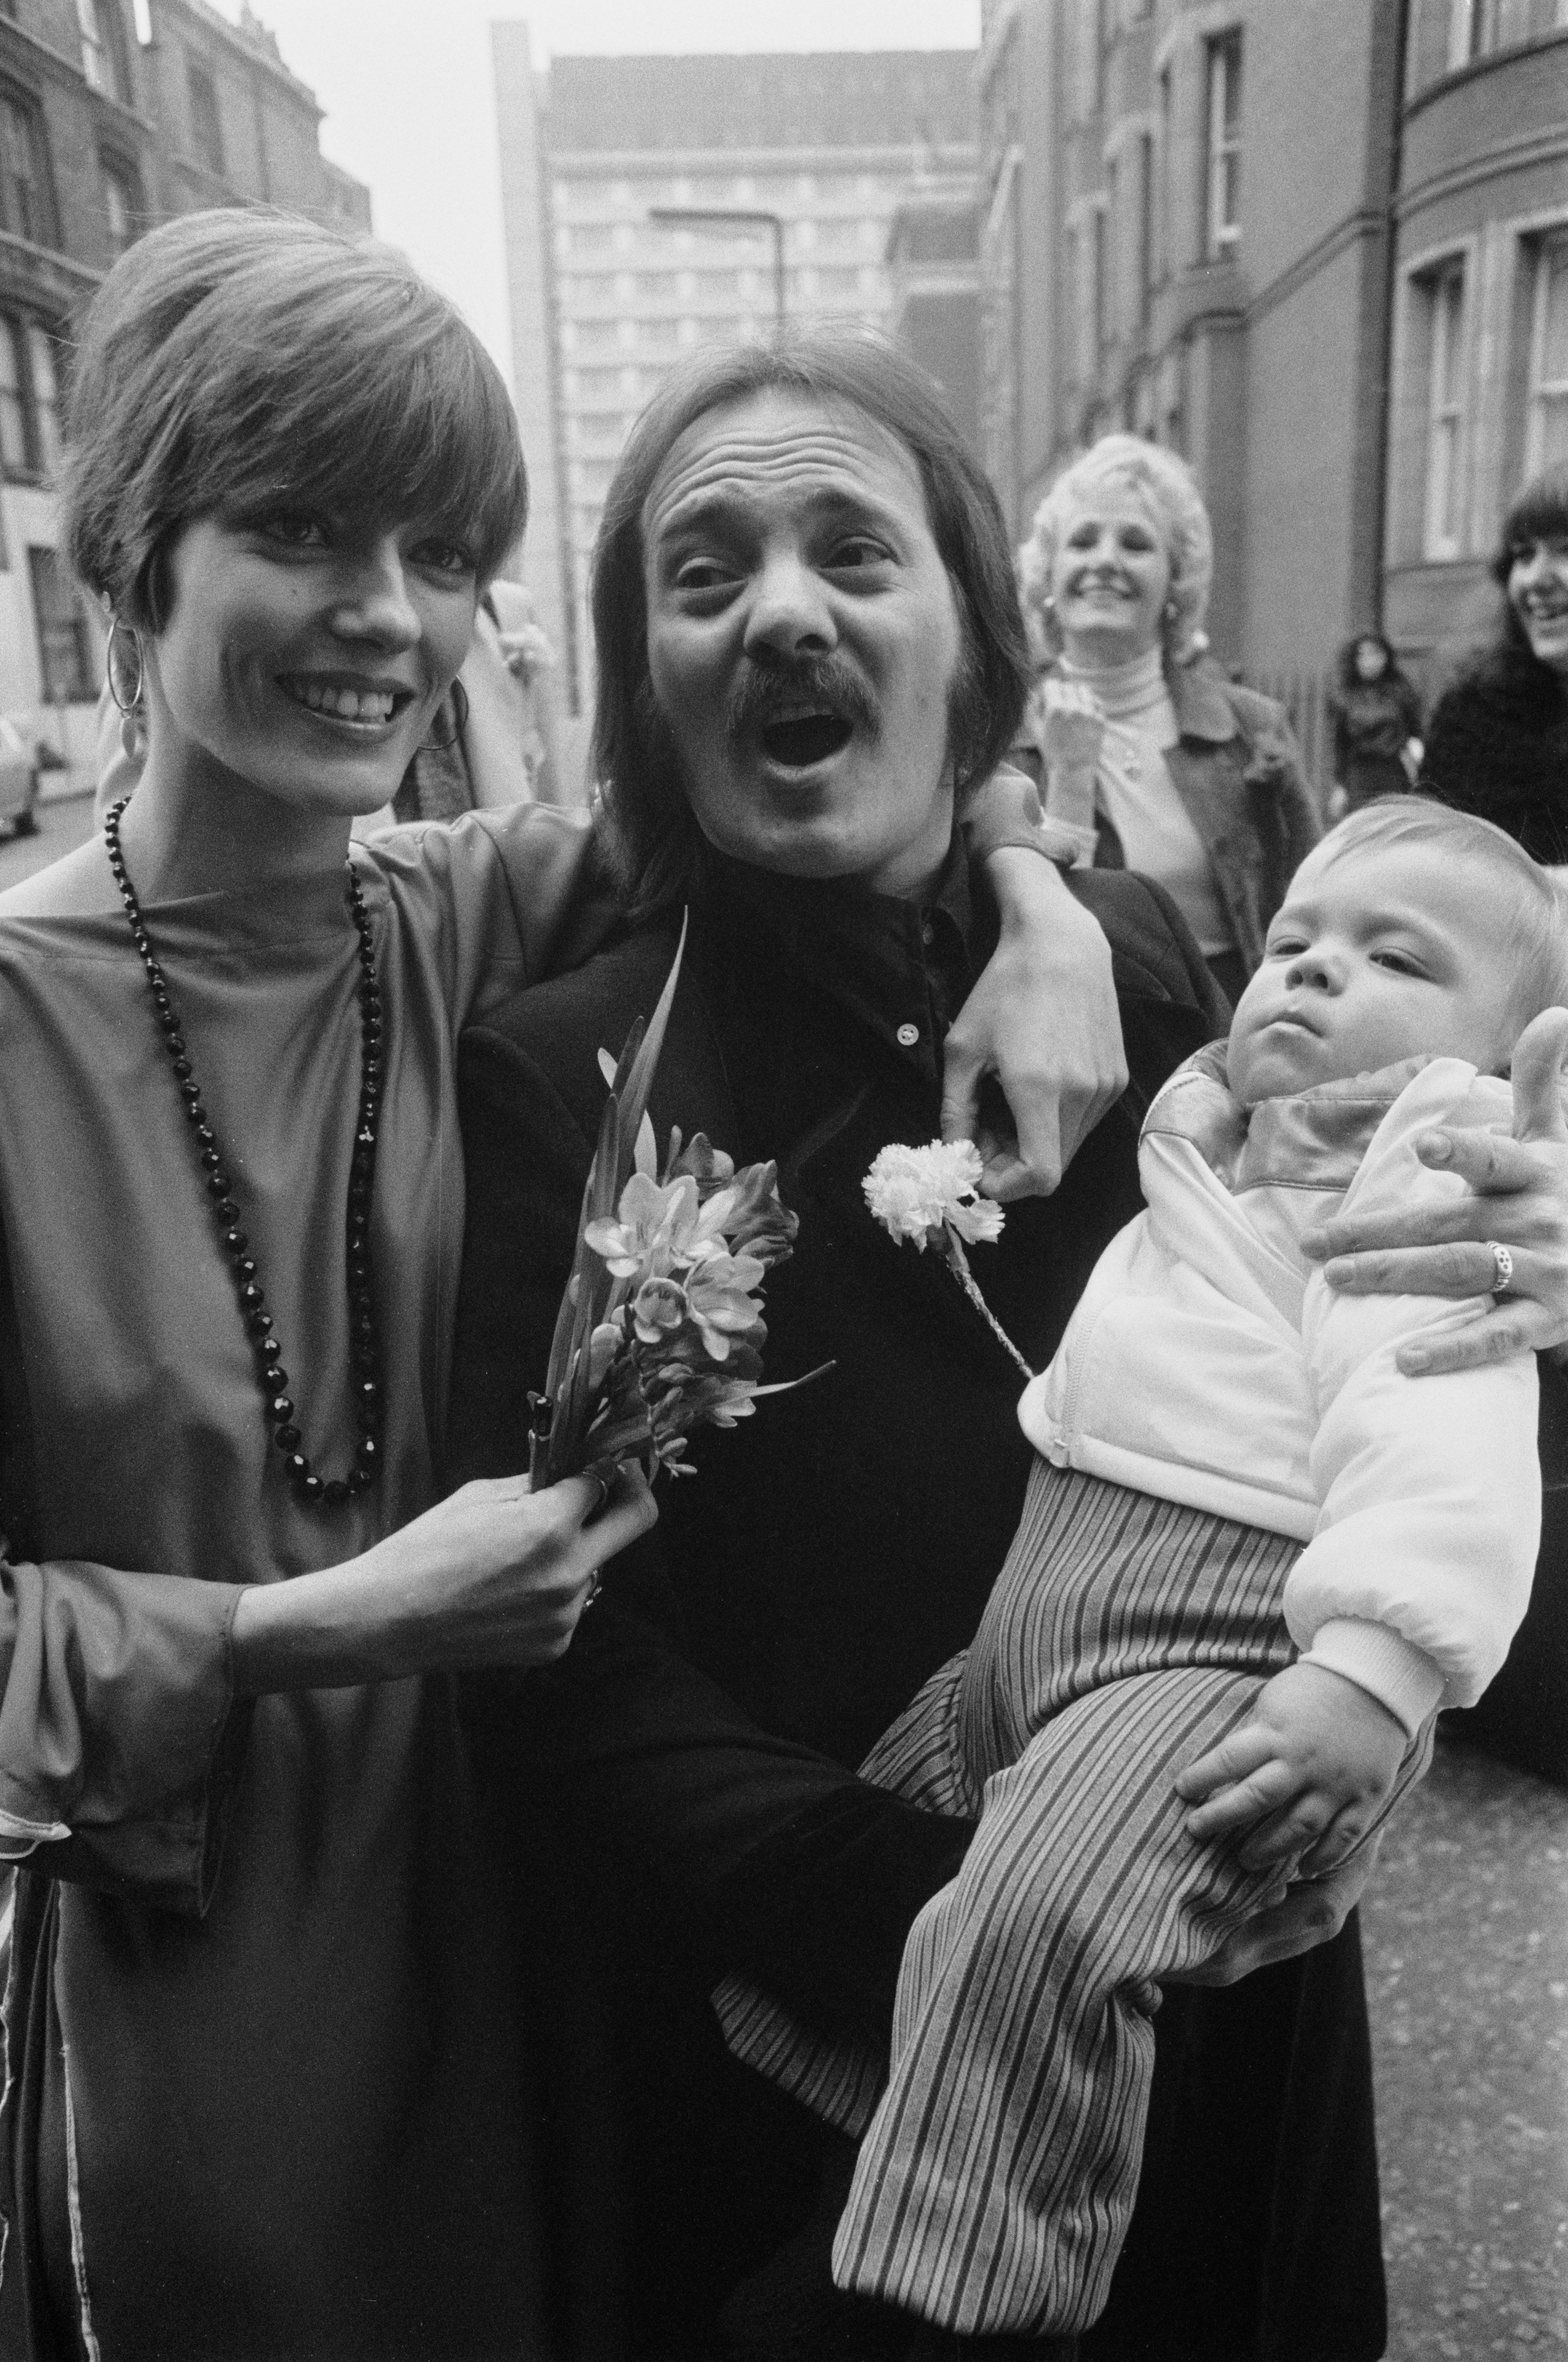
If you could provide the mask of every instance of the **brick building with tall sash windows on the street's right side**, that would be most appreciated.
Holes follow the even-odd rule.
[[[1322,770],[1568,451],[1568,0],[985,0],[985,454],[1015,529],[1112,425],[1185,454],[1219,654]]]

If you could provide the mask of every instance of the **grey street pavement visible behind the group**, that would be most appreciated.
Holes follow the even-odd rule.
[[[92,798],[0,843],[0,888]],[[1568,1790],[1440,1746],[1363,1904],[1389,2362],[1568,2357]]]

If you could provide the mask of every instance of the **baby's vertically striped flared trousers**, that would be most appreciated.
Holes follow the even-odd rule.
[[[730,1979],[730,2048],[864,2133],[834,2279],[963,2336],[1070,2334],[1105,2305],[1155,2067],[1159,1979],[1278,1887],[1200,1845],[1174,1774],[1292,1663],[1299,1542],[1037,1460],[973,1646],[862,1764],[980,1814],[900,1970],[893,2062]],[[1396,1795],[1419,1776],[1412,1746]]]

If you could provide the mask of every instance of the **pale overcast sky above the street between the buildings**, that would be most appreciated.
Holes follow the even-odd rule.
[[[239,0],[217,0],[239,17]],[[980,0],[255,0],[326,109],[321,146],[368,180],[404,246],[508,366],[489,26],[524,19],[534,54],[649,50],[966,50]]]

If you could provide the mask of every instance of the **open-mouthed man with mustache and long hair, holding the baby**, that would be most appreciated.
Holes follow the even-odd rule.
[[[654,1124],[779,1160],[801,1233],[770,1280],[767,1375],[834,1370],[701,1450],[569,1656],[477,1708],[560,2069],[541,2107],[564,2345],[947,2353],[831,2291],[848,2145],[730,2062],[706,1996],[746,1968],[886,2041],[902,1937],[971,1833],[850,1767],[978,1623],[1030,1464],[1018,1377],[937,1259],[874,1228],[860,1183],[888,1141],[935,1134],[942,1042],[997,933],[954,824],[1025,692],[1001,515],[888,347],[704,357],[621,461],[595,633],[602,834],[642,926],[465,1042],[453,1474],[520,1462],[595,1053],[652,1009],[682,907]],[[1112,945],[1131,1087],[1056,1195],[1013,1205],[975,1254],[1032,1368],[1138,1205],[1148,1096],[1221,1020],[1157,888],[1082,872],[1074,893]],[[1221,1975],[1278,1965],[1235,1991],[1167,1996],[1145,2197],[1086,2357],[1381,2353],[1355,1932],[1296,1956],[1351,1899],[1320,1887],[1259,1923]]]

